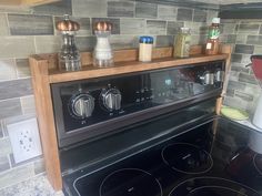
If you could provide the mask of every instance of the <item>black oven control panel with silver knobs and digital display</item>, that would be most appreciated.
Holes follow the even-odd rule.
[[[218,91],[223,75],[224,61],[215,61],[52,84],[57,130],[67,137],[68,133]]]

